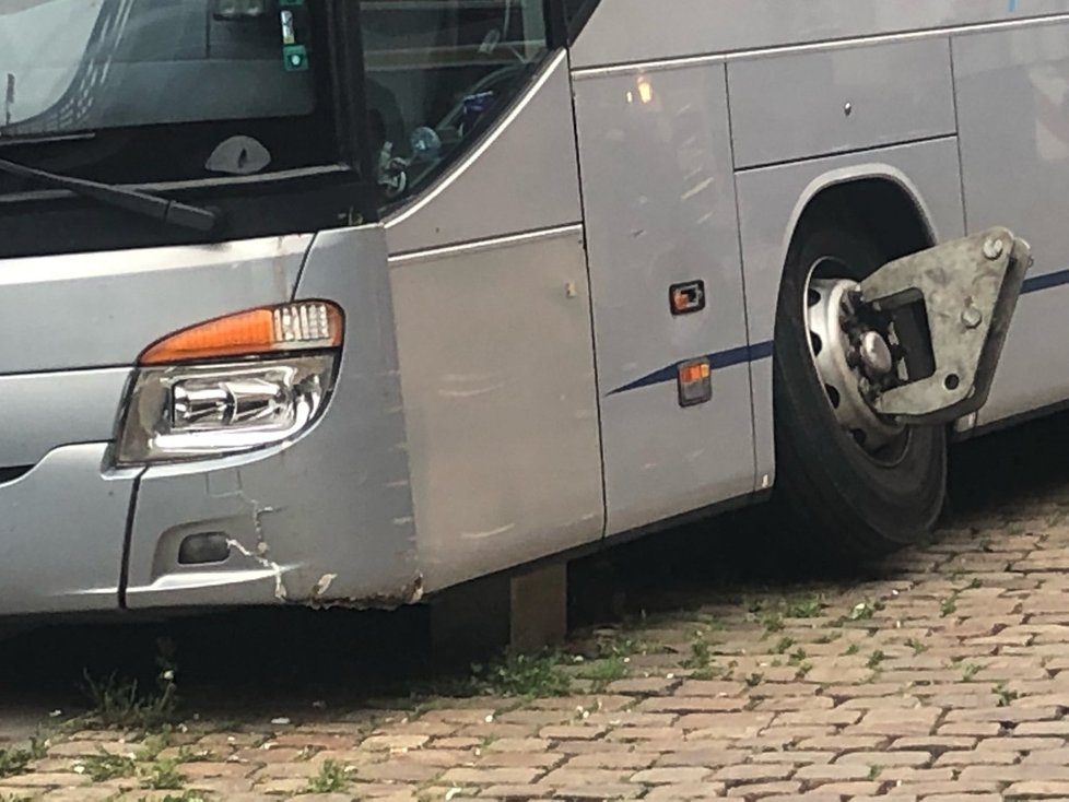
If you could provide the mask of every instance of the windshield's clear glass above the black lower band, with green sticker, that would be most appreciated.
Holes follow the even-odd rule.
[[[316,103],[303,3],[15,0],[0,7],[0,135],[294,117]]]

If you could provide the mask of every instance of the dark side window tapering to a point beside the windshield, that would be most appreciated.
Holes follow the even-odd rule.
[[[366,0],[373,158],[389,204],[456,160],[548,52],[542,0]]]

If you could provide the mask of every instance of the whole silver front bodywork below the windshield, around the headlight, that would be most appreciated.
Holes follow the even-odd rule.
[[[52,262],[9,263],[14,288],[0,297],[0,314],[32,334],[38,312],[20,300],[23,290],[92,312],[37,332],[33,354],[0,344],[13,366],[0,376],[12,433],[0,443],[0,615],[420,599],[381,228]],[[150,285],[173,305],[137,304]],[[183,327],[305,298],[337,304],[346,327],[332,392],[310,427],[243,455],[115,467],[136,370],[102,366],[132,366]],[[77,335],[119,317],[95,340]],[[183,550],[204,536],[222,551]]]

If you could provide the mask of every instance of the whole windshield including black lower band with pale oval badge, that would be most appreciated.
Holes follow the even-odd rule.
[[[40,168],[131,182],[336,163],[321,9],[3,0],[0,149]]]

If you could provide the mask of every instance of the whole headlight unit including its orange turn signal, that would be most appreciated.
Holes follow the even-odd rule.
[[[161,341],[140,359],[116,462],[222,457],[299,435],[333,386],[341,338],[340,311],[313,302],[242,312]]]

